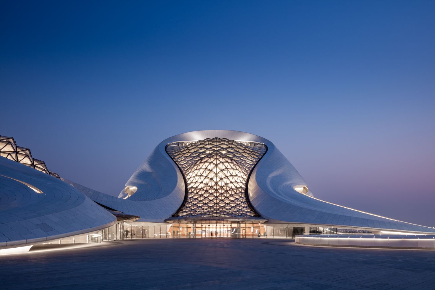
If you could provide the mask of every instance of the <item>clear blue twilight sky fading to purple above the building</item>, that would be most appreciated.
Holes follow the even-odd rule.
[[[0,134],[118,195],[162,140],[271,140],[316,197],[435,226],[435,1],[3,1]]]

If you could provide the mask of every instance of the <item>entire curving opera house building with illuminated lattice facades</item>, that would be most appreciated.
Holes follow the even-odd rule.
[[[0,137],[0,253],[35,244],[150,238],[288,238],[434,248],[435,229],[320,200],[262,137],[204,130],[163,140],[118,197],[50,172]]]

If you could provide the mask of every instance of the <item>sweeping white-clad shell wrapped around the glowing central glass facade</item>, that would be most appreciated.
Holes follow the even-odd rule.
[[[269,223],[300,223],[376,230],[435,233],[435,229],[341,207],[298,193],[295,186],[307,185],[298,171],[269,140],[240,131],[203,130],[179,134],[162,141],[127,181],[137,191],[127,200],[94,190],[82,189],[91,199],[139,221],[164,222],[176,213],[184,200],[184,180],[177,165],[165,152],[167,144],[206,138],[264,143],[268,151],[248,181],[248,197],[254,210]],[[309,188],[309,186],[308,186]]]

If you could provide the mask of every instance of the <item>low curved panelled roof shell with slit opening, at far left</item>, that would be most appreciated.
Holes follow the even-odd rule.
[[[0,249],[89,233],[115,222],[114,215],[63,181],[0,157]]]

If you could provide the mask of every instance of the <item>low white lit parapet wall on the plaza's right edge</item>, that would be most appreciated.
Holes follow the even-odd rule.
[[[324,247],[435,250],[435,235],[298,235],[295,242]]]

